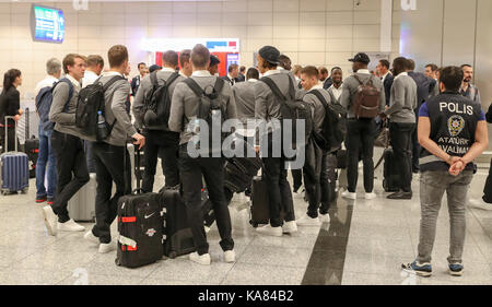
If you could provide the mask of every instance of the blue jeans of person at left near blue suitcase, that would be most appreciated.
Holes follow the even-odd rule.
[[[36,164],[36,198],[54,198],[57,188],[57,162],[51,147],[51,132],[39,126],[39,155]],[[46,165],[48,167],[48,191],[45,187]]]

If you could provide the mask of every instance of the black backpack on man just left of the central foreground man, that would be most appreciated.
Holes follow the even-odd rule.
[[[143,123],[147,127],[164,125],[168,128],[167,122],[169,121],[172,98],[169,95],[169,86],[178,78],[179,73],[174,72],[164,81],[164,84],[160,85],[157,81],[157,71],[150,74],[152,88],[147,94],[143,103]]]

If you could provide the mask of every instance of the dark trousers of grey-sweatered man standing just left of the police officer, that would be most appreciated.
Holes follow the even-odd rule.
[[[414,129],[415,123],[389,123],[389,139],[401,178],[400,189],[405,192],[412,190],[412,132]]]

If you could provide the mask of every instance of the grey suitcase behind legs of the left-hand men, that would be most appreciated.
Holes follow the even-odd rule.
[[[75,222],[95,221],[96,175],[89,174],[85,184],[68,202],[68,212]]]

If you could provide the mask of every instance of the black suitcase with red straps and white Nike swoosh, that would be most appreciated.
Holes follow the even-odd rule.
[[[164,214],[161,194],[141,193],[137,180],[137,190],[118,200],[117,265],[138,268],[162,259]]]

